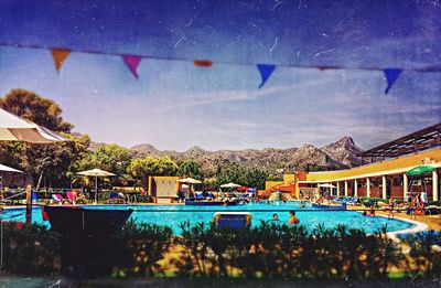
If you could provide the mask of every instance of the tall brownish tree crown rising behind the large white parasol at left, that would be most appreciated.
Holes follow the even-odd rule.
[[[34,92],[11,89],[0,98],[0,107],[53,131],[69,132],[74,127],[61,117],[62,108],[53,100]]]

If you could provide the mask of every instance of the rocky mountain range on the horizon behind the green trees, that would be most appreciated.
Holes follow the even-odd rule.
[[[303,145],[300,148],[288,149],[265,148],[262,150],[218,150],[207,151],[201,147],[192,147],[186,151],[160,151],[149,143],[133,146],[129,149],[136,157],[169,156],[175,162],[181,163],[186,159],[198,162],[207,174],[215,173],[218,164],[237,163],[256,167],[268,171],[283,169],[292,170],[335,170],[359,166],[361,159],[356,153],[363,151],[354,140],[345,136],[336,142],[316,148],[312,145]]]

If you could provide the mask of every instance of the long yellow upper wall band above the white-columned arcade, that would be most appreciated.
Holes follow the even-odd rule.
[[[397,159],[386,160],[384,162],[366,164],[353,169],[320,172],[320,173],[308,173],[306,181],[332,181],[342,178],[357,178],[358,175],[370,174],[370,173],[379,173],[379,172],[386,173],[389,170],[419,166],[421,164],[421,160],[423,158],[430,158],[430,160],[434,160],[435,162],[441,162],[441,148]]]

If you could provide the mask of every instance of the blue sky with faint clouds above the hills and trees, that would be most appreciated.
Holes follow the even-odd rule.
[[[22,87],[57,102],[75,130],[125,147],[208,150],[323,146],[348,135],[370,148],[441,120],[441,73],[252,65],[423,67],[441,64],[440,1],[1,1],[0,42],[209,58],[143,60],[0,46],[0,95]]]

